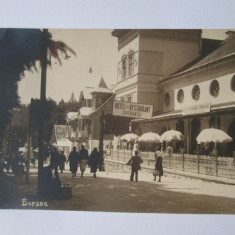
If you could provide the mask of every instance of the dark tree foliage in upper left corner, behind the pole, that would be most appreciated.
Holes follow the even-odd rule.
[[[18,82],[24,71],[37,70],[36,61],[42,58],[43,34],[39,29],[0,29],[0,140],[4,137],[12,117],[11,110],[19,106]],[[48,52],[61,64],[61,53],[76,53],[61,41],[53,41],[47,35]],[[61,53],[59,53],[61,52]],[[48,65],[51,65],[48,61]]]

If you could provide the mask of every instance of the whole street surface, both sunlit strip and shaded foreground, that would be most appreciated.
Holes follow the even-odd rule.
[[[192,214],[235,213],[235,189],[232,185],[175,177],[163,177],[162,182],[159,183],[153,182],[150,174],[141,172],[139,182],[130,182],[127,172],[98,172],[97,178],[94,179],[88,172],[89,169],[84,178],[75,179],[71,178],[69,171],[61,174],[62,184],[72,186],[72,198],[48,201],[48,206],[41,209]],[[32,175],[31,185],[19,187],[21,199],[32,200],[29,199],[29,195],[36,192],[36,180],[36,175]]]

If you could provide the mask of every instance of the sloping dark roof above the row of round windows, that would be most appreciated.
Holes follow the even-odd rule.
[[[221,41],[219,43],[218,40],[207,40],[204,41],[205,46],[212,43],[211,48],[207,50],[207,52],[211,51],[212,48],[214,48],[211,53],[206,54],[205,49],[202,53],[202,56],[198,57],[197,59],[191,61],[184,67],[182,67],[180,70],[169,76],[167,79],[163,80],[162,82],[169,80],[173,77],[179,76],[181,74],[191,72],[195,69],[202,68],[204,66],[220,62],[223,59],[230,58],[232,56],[235,56],[235,36],[230,36],[224,41]]]

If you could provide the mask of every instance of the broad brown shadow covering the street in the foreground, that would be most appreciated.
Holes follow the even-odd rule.
[[[50,209],[103,212],[156,212],[191,214],[234,214],[235,199],[195,195],[190,193],[162,190],[163,184],[153,182],[130,182],[110,177],[70,178],[60,176],[63,184],[72,187],[72,198],[50,200],[36,197],[36,177],[30,185],[19,186],[19,207],[22,209]],[[27,202],[46,202],[47,206],[22,206]]]

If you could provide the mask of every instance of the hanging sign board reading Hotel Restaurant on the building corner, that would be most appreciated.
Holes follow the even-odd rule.
[[[113,101],[113,115],[151,119],[153,115],[153,105]]]

